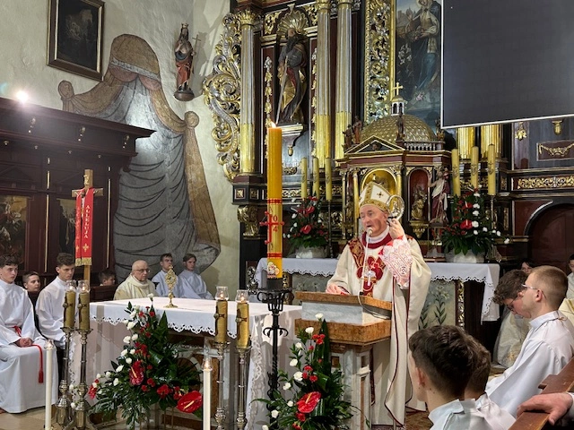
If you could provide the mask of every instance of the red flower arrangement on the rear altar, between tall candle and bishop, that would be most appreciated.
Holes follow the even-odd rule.
[[[301,246],[315,248],[329,243],[328,228],[320,216],[321,205],[317,197],[308,197],[294,209],[289,230],[283,234],[291,244],[290,253]]]

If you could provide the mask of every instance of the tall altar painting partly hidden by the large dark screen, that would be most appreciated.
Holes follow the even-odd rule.
[[[442,0],[396,0],[395,82],[408,114],[432,129],[440,117]]]

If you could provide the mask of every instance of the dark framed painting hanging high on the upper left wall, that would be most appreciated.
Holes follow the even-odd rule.
[[[101,81],[104,2],[50,0],[48,65]]]

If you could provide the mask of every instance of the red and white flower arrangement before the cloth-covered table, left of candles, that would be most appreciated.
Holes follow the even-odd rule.
[[[168,341],[166,314],[158,319],[153,305],[143,308],[131,303],[126,312],[129,317],[124,323],[132,334],[124,338],[126,345],[117,363],[111,363],[113,370],[98,374],[91,384],[88,395],[97,400],[91,411],[115,418],[121,409],[131,429],[154,404],[162,410],[200,414],[202,396],[195,390],[199,373],[180,361],[180,346]]]

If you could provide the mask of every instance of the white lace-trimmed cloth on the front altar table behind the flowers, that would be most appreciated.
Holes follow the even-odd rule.
[[[88,350],[88,384],[97,373],[111,369],[110,361],[116,361],[123,348],[123,339],[128,334],[126,326],[122,323],[128,314],[128,302],[132,305],[148,306],[152,302],[148,298],[116,300],[109,302],[95,302],[90,304],[91,331],[88,345],[96,351]],[[165,308],[169,303],[167,297],[153,297],[153,307],[158,317],[164,312],[168,317],[168,326],[175,331],[191,331],[196,334],[215,334],[215,301],[189,298],[174,298],[173,304],[177,308]],[[237,304],[230,300],[228,308],[227,332],[231,339],[237,337]],[[289,368],[289,348],[296,338],[294,321],[301,316],[301,307],[284,305],[280,314],[279,323],[289,331],[287,336],[279,337],[280,369]],[[249,356],[248,393],[246,401],[247,429],[261,428],[266,422],[265,404],[256,399],[267,396],[267,372],[271,372],[273,362],[272,339],[263,333],[265,327],[271,327],[273,315],[267,310],[267,305],[261,303],[249,304],[249,327],[251,331],[251,352]],[[121,323],[118,327],[118,323]],[[111,324],[111,325],[110,325]],[[231,342],[231,348],[234,343]],[[80,348],[76,348],[79,349]],[[78,354],[79,355],[79,354]],[[77,359],[74,362],[79,363]],[[233,365],[234,366],[234,365]],[[233,367],[232,367],[233,368]],[[213,409],[216,405],[212,405]]]

